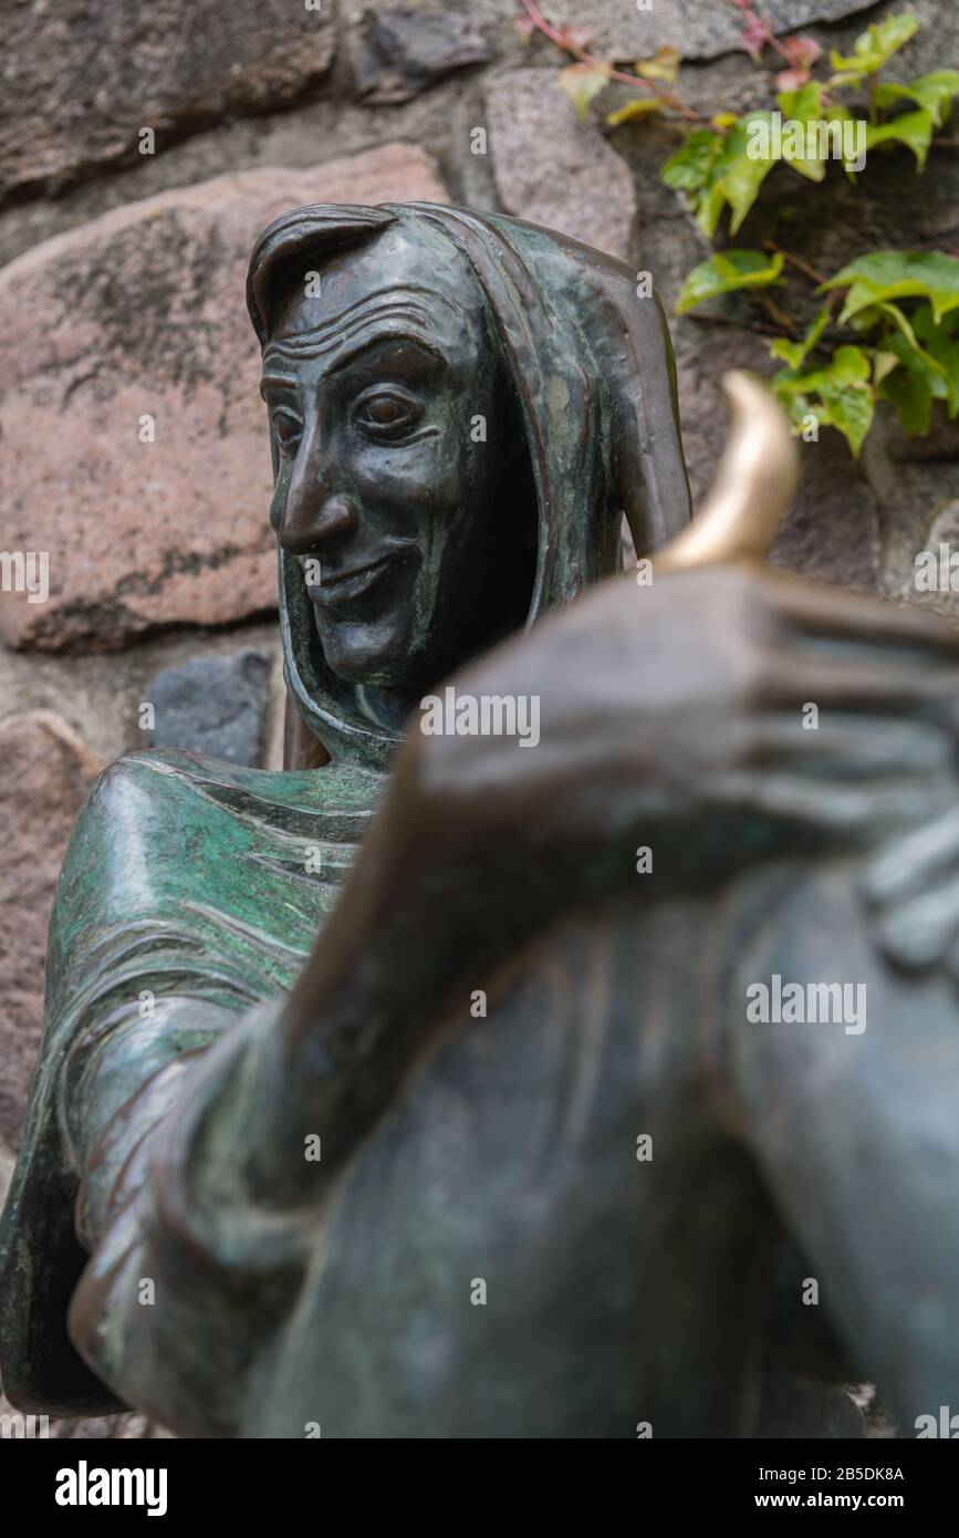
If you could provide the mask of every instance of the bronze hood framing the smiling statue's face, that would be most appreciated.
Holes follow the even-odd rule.
[[[523,404],[538,514],[527,626],[621,569],[626,514],[636,554],[690,518],[676,374],[659,300],[630,268],[553,231],[436,203],[318,205],[270,225],[254,248],[247,305],[270,337],[277,269],[310,246],[344,246],[401,221],[424,246],[450,241],[483,294]],[[274,443],[274,471],[278,452]],[[360,709],[318,644],[298,560],[280,549],[280,623],[290,698],[333,761],[383,769],[400,738]]]

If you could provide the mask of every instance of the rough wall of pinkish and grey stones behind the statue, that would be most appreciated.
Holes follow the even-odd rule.
[[[759,105],[724,0],[541,9],[584,23],[604,57],[673,43],[698,109]],[[761,9],[848,52],[890,5]],[[954,0],[911,9],[922,31],[899,74],[959,65]],[[269,458],[243,306],[260,228],[327,200],[499,209],[624,255],[669,308],[707,255],[659,180],[675,129],[581,123],[556,89],[569,60],[523,40],[518,0],[3,0],[2,14],[0,548],[49,552],[49,598],[0,594],[0,1184],[40,1029],[49,906],[92,777],[149,741],[281,761]],[[905,151],[856,188],[775,172],[741,243],[775,235],[827,271],[884,245],[957,251],[959,138],[944,138],[924,177]],[[718,377],[770,372],[765,329],[744,298],[673,320],[696,497],[725,431]],[[930,531],[948,538],[957,520],[959,426],[936,418],[905,440],[882,417],[859,466],[831,429],[802,446],[778,558],[899,594]],[[157,1429],[132,1416],[57,1433]]]

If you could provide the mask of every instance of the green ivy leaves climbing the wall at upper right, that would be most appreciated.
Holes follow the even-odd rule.
[[[633,72],[615,69],[587,51],[582,28],[553,28],[533,0],[523,0],[521,32],[544,32],[575,57],[559,71],[559,85],[581,117],[613,82],[642,94],[606,114],[619,126],[652,114],[679,120],[682,143],[661,169],[664,183],[684,195],[710,243],[739,234],[765,177],[782,165],[810,181],[824,181],[828,160],[839,160],[856,181],[870,151],[904,148],[921,174],[930,146],[959,97],[959,71],[937,69],[905,83],[881,80],[888,62],[916,34],[919,22],[899,11],[873,22],[842,55],[828,62],[810,37],[781,40],[752,9],[728,0],[742,15],[742,46],[759,65],[779,55],[775,105],[741,115],[719,112],[704,120],[673,91],[681,55],[661,48],[638,60]],[[959,258],[944,251],[868,251],[827,277],[773,243],[715,249],[685,278],[678,314],[738,291],[768,291],[785,281],[788,263],[815,285],[822,305],[799,337],[773,295],[759,297],[781,335],[770,345],[781,365],[773,391],[796,432],[810,421],[836,428],[859,455],[876,403],[887,400],[907,434],[927,434],[933,401],[959,415]]]

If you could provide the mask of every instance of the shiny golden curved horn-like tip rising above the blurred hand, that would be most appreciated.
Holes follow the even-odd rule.
[[[730,434],[701,512],[655,557],[656,571],[715,566],[772,549],[799,478],[785,412],[750,374],[722,375]]]

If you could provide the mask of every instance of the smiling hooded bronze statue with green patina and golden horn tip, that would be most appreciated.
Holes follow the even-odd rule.
[[[8,1397],[756,1435],[765,1350],[905,1426],[959,1401],[953,635],[748,560],[795,466],[742,378],[689,524],[665,323],[609,257],[321,206],[247,297],[300,761],[330,761],[140,752],[92,791]],[[756,1018],[773,986],[865,995],[850,1030]]]

